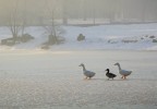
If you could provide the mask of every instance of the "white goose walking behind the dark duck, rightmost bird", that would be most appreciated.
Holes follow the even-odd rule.
[[[132,71],[126,71],[126,70],[122,70],[121,66],[120,66],[120,63],[114,63],[114,65],[118,65],[119,68],[119,73],[122,75],[121,78],[126,78],[128,75],[130,75],[132,73]]]

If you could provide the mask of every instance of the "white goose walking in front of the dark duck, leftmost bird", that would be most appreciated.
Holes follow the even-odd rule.
[[[83,73],[84,75],[86,76],[85,78],[92,78],[93,76],[95,76],[95,72],[92,72],[92,71],[87,71],[85,69],[85,65],[83,63],[81,63],[78,66],[82,66],[83,68]]]

